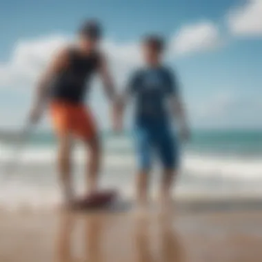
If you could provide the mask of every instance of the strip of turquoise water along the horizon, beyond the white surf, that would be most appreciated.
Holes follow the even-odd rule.
[[[129,139],[132,143],[132,132],[122,134],[103,132],[102,137],[103,141],[113,139],[114,141],[119,140],[116,143],[121,143]],[[0,137],[1,140],[3,141],[4,137]],[[33,134],[30,139],[30,144],[35,146],[53,145],[54,143],[56,139],[50,132]],[[196,130],[192,132],[192,137],[185,145],[185,149],[199,153],[234,154],[243,157],[262,156],[262,130]],[[123,147],[122,150],[124,153],[130,148]]]

